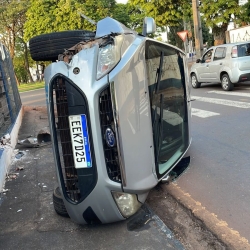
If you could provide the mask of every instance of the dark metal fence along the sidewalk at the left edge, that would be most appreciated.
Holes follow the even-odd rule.
[[[10,54],[0,44],[0,138],[15,124],[21,106]]]

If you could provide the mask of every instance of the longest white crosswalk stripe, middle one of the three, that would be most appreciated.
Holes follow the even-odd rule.
[[[200,97],[200,96],[192,96],[192,99],[195,99],[196,101],[220,104],[220,105],[236,107],[236,108],[243,108],[243,109],[250,108],[250,103],[248,102],[238,102],[238,101],[231,101],[231,100],[217,99],[217,98],[207,98],[207,97]]]

